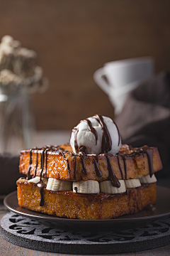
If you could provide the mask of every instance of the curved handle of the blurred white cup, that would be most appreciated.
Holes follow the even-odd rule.
[[[104,73],[103,68],[99,68],[94,73],[94,81],[96,82],[96,84],[99,87],[101,87],[101,90],[103,90],[103,92],[105,92],[107,95],[109,95],[111,92],[111,87],[110,87],[110,85],[108,85],[106,80],[103,78],[104,75],[106,75],[106,74]]]

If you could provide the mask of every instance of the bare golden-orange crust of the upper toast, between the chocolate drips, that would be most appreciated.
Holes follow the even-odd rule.
[[[82,161],[79,154],[72,154],[72,148],[69,145],[62,145],[63,153],[60,151],[47,151],[47,167],[46,154],[44,154],[44,164],[42,176],[47,178],[57,178],[66,181],[106,181],[109,176],[108,162],[104,154],[98,155],[98,166],[102,172],[102,176],[98,177],[96,174],[94,161],[96,156],[93,154],[85,154],[84,161]],[[154,172],[162,169],[162,161],[159,156],[157,147],[152,147],[153,169]],[[70,153],[68,152],[70,151]],[[149,161],[146,153],[130,155],[135,149],[129,149],[128,146],[123,145],[118,156],[111,156],[111,165],[115,176],[119,179],[140,178],[149,174]],[[41,173],[41,152],[40,149],[33,149],[31,154],[30,176],[40,176]],[[126,156],[123,159],[124,152]],[[38,154],[38,162],[37,162]],[[22,150],[20,156],[19,170],[21,174],[27,174],[30,163],[30,150]],[[86,174],[84,173],[83,164],[86,167]],[[37,168],[36,168],[37,166]]]

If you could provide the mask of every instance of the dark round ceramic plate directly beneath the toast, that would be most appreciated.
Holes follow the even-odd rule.
[[[13,213],[38,220],[39,223],[51,228],[82,231],[109,231],[138,228],[152,223],[159,218],[170,215],[170,188],[157,186],[157,210],[142,210],[140,213],[124,215],[111,220],[78,220],[60,218],[33,210],[26,210],[18,206],[16,191],[8,194],[4,199],[4,205]]]

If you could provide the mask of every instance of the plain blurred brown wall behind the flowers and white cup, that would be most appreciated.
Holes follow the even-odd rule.
[[[111,60],[152,55],[156,73],[170,69],[170,1],[0,1],[6,34],[38,53],[50,80],[34,97],[38,129],[72,129],[100,113],[114,117],[94,71]]]

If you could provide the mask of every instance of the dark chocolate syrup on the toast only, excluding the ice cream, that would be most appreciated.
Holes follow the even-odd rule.
[[[87,170],[86,170],[86,165],[84,163],[84,157],[86,156],[86,154],[84,153],[84,151],[80,151],[79,154],[74,154],[73,152],[69,152],[69,151],[63,151],[62,148],[60,148],[60,146],[44,146],[42,147],[42,149],[38,149],[38,148],[33,148],[30,149],[30,161],[29,161],[29,166],[28,166],[28,173],[27,173],[27,178],[30,179],[32,178],[30,176],[30,170],[32,168],[32,153],[33,151],[36,151],[36,166],[35,166],[35,174],[33,175],[33,177],[36,176],[36,171],[38,168],[38,151],[40,151],[40,181],[38,182],[38,189],[40,191],[40,206],[43,206],[43,189],[46,187],[46,185],[44,183],[42,183],[42,176],[45,177],[47,174],[47,152],[48,151],[57,151],[57,154],[61,154],[64,158],[64,160],[67,161],[67,169],[69,170],[69,176],[71,178],[71,174],[70,174],[70,168],[69,168],[69,161],[67,158],[65,158],[64,153],[69,153],[74,157],[74,178],[77,178],[76,175],[76,169],[77,169],[77,158],[76,156],[79,155],[81,157],[81,164],[82,164],[82,170],[84,175],[88,175]],[[137,155],[140,154],[147,154],[147,159],[148,159],[148,164],[149,164],[149,175],[152,176],[152,174],[154,174],[154,169],[153,169],[153,152],[152,152],[152,148],[150,148],[149,146],[142,146],[140,149],[136,149],[135,151],[132,151],[132,153],[128,154],[128,153],[123,153],[123,154],[116,154],[116,157],[118,159],[118,166],[122,175],[122,179],[123,179],[123,169],[120,166],[120,157],[122,157],[123,162],[124,162],[124,171],[125,171],[125,179],[127,179],[127,166],[126,166],[126,159],[128,156],[130,157],[135,157]],[[120,187],[120,182],[118,181],[118,178],[115,176],[115,173],[113,171],[113,166],[111,164],[111,156],[113,156],[112,154],[109,153],[104,153],[104,154],[100,154],[101,156],[105,156],[106,160],[107,160],[107,165],[108,165],[108,180],[111,181],[112,185],[115,187]],[[95,167],[95,171],[96,171],[96,175],[98,177],[101,177],[102,171],[100,170],[99,166],[98,166],[98,156],[100,155],[94,155],[94,167]],[[43,173],[43,169],[44,169],[44,160],[45,161],[45,174]]]

